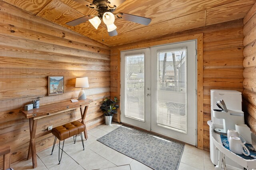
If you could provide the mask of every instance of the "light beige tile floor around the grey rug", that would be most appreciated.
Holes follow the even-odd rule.
[[[118,128],[121,124],[100,125],[88,131],[88,140],[84,141],[82,150],[81,138],[67,139],[60,165],[58,165],[58,147],[50,155],[52,148],[37,153],[38,167],[34,170],[151,170],[148,166],[103,145],[96,139]],[[58,140],[57,140],[58,141]],[[62,145],[62,144],[61,144]],[[12,164],[14,170],[32,169],[32,160],[22,160]],[[185,145],[179,170],[214,170],[210,153]]]

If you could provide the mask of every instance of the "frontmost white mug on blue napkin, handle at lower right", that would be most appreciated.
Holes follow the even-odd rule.
[[[243,148],[248,152],[248,154],[244,152]],[[236,154],[244,154],[245,156],[250,155],[248,148],[242,143],[241,139],[236,136],[231,136],[229,138],[229,149]]]

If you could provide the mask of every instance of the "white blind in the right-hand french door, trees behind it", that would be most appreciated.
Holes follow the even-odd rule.
[[[157,125],[187,132],[187,49],[158,51]]]

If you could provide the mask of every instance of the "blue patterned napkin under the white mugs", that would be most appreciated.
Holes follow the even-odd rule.
[[[228,142],[228,137],[225,136],[225,135],[220,135],[220,138],[221,138],[221,142],[222,142],[222,145],[223,147],[225,147],[226,149],[230,150],[229,149],[229,142]],[[245,156],[244,154],[236,154],[244,159],[256,159],[256,150],[254,150],[253,146],[251,144],[245,144],[245,146],[249,149],[250,151],[250,155],[249,156]],[[245,150],[244,150],[245,153],[247,153]]]

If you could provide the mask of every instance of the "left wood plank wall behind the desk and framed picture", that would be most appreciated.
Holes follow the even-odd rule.
[[[64,76],[65,93],[48,96],[48,76],[55,75]],[[19,110],[38,96],[40,105],[77,98],[78,76],[88,76],[85,91],[95,100],[86,116],[91,129],[104,122],[99,105],[110,96],[110,48],[0,1],[0,144],[11,146],[12,162],[28,153],[28,119]],[[79,117],[73,110],[40,119],[37,132]],[[51,147],[53,139],[49,134],[36,140],[37,151]]]

